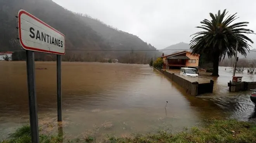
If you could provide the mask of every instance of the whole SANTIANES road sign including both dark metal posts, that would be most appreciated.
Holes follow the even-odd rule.
[[[25,10],[18,15],[19,42],[27,55],[27,78],[29,95],[29,118],[31,142],[39,143],[38,117],[35,91],[35,57],[34,52],[57,54],[57,114],[61,114],[61,55],[65,54],[65,35]]]

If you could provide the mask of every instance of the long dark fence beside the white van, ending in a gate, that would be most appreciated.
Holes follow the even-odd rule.
[[[186,93],[192,95],[192,96],[197,96],[203,93],[212,93],[213,92],[213,81],[211,81],[211,84],[208,84],[209,86],[206,89],[209,90],[201,90],[199,91],[199,83],[198,82],[190,82],[186,79],[183,79],[180,76],[175,75],[174,73],[170,73],[167,71],[164,71],[163,69],[157,69],[161,73],[163,73],[165,76],[169,77],[172,81],[176,82],[178,85],[180,85],[183,89],[185,89]]]

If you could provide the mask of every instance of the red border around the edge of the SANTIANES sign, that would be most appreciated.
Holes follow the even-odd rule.
[[[42,50],[42,49],[38,49],[36,47],[28,47],[26,45],[23,44],[22,42],[22,38],[21,38],[21,15],[22,14],[26,14],[28,15],[29,17],[35,19],[36,21],[40,22],[41,24],[45,25],[46,27],[54,30],[55,32],[61,34],[63,37],[64,37],[64,41],[65,41],[65,35],[62,34],[61,32],[59,32],[58,30],[52,28],[50,25],[46,24],[45,22],[43,22],[42,20],[36,18],[35,16],[31,15],[30,13],[26,12],[25,10],[19,10],[18,12],[18,24],[19,24],[19,41],[21,42],[21,45],[24,49],[26,50],[33,50],[33,51],[37,51],[37,52],[47,52],[47,53],[51,53],[51,54],[59,54],[59,55],[64,55],[66,53],[66,50],[64,50],[64,53],[60,53],[60,52],[54,52],[54,51],[50,51],[50,50]],[[66,47],[66,42],[65,42],[65,47]]]

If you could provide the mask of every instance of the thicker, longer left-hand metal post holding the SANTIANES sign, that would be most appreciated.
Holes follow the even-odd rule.
[[[35,89],[35,57],[34,52],[26,50],[27,55],[27,78],[28,78],[28,99],[29,99],[29,118],[31,128],[32,143],[39,143],[38,118]]]

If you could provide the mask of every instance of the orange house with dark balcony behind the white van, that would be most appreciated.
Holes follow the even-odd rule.
[[[162,56],[164,61],[163,69],[180,68],[180,67],[198,67],[198,54],[191,54],[188,51],[176,52],[170,55]]]

